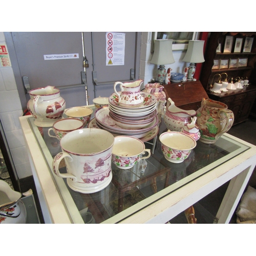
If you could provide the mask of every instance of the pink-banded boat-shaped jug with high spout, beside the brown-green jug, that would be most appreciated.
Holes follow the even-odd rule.
[[[186,123],[191,122],[191,117],[196,114],[195,110],[179,109],[174,101],[168,98],[163,120],[167,129],[174,132],[180,132]]]

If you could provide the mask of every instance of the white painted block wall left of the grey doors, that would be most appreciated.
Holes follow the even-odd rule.
[[[0,44],[5,44],[4,32],[0,32]],[[32,175],[18,119],[22,115],[22,105],[12,67],[0,67],[0,119],[19,179]]]

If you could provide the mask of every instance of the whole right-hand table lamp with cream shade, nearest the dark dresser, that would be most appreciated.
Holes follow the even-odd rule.
[[[193,80],[196,66],[195,63],[204,62],[204,41],[203,40],[189,40],[188,48],[185,57],[183,58],[184,62],[190,62],[187,72],[187,80]]]

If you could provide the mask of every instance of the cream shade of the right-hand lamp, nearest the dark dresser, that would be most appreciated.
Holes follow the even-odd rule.
[[[203,40],[189,40],[184,62],[202,63],[204,62],[204,41]]]

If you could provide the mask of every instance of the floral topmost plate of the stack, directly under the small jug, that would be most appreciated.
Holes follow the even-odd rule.
[[[120,92],[121,93],[121,92]],[[139,110],[139,109],[144,109],[148,106],[152,106],[154,104],[156,104],[157,102],[157,98],[154,95],[151,95],[149,93],[145,93],[145,92],[140,92],[140,94],[142,95],[142,97],[144,98],[144,101],[142,102],[142,104],[136,108],[133,108],[133,110]],[[126,109],[129,110],[131,109],[131,106],[120,106],[119,102],[118,102],[118,97],[115,93],[113,93],[110,97],[109,97],[109,103],[113,106],[117,106],[120,109]]]

